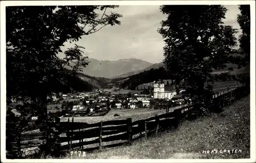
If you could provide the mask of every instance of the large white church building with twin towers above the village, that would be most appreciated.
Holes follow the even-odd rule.
[[[154,81],[154,98],[172,99],[176,94],[175,91],[164,91],[164,83]]]

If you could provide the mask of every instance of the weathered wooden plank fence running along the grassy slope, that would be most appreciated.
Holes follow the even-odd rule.
[[[212,108],[221,110],[225,105],[231,104],[249,94],[249,87],[240,85],[238,87],[225,89],[223,92],[214,95]],[[104,121],[99,123],[74,122],[74,118],[68,122],[56,122],[59,124],[59,142],[62,150],[91,151],[105,147],[115,147],[123,144],[131,145],[132,141],[141,137],[157,135],[160,131],[176,128],[179,122],[188,115],[193,114],[196,108],[191,104],[182,105],[173,112],[156,115],[148,119],[132,122],[132,118],[126,120]],[[28,147],[38,147],[44,141],[42,135],[23,135],[19,150]],[[34,154],[38,149],[23,151],[23,157]]]

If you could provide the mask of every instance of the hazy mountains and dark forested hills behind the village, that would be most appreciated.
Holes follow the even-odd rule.
[[[239,55],[239,54],[231,54]],[[88,59],[90,62],[87,67],[82,69],[78,74],[78,78],[83,81],[84,86],[90,88],[111,88],[112,86],[121,86],[121,88],[135,88],[140,84],[152,82],[152,80],[166,78],[164,75],[164,63],[152,64],[138,59],[120,59],[117,61],[99,61],[96,59]],[[73,66],[74,63],[71,63]],[[227,63],[226,68],[214,70],[213,73],[236,71],[238,65]],[[70,69],[70,67],[66,67]],[[143,77],[144,76],[144,77]],[[155,78],[152,76],[155,76]],[[143,79],[142,79],[143,78]],[[152,80],[148,80],[151,79]],[[77,81],[79,79],[76,79]],[[136,82],[134,82],[136,80]],[[147,81],[148,80],[148,81]],[[82,85],[82,83],[81,83]]]

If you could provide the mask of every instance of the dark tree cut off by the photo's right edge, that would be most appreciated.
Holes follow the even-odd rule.
[[[240,48],[244,51],[243,66],[250,62],[250,5],[239,5],[240,14],[238,14],[237,21],[242,30],[239,36]]]

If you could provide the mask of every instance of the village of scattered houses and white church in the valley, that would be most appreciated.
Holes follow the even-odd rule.
[[[148,94],[118,93],[113,89],[98,89],[94,92],[53,93],[48,97],[47,110],[51,117],[104,116],[110,110],[154,108],[164,109],[170,105],[180,105],[183,99],[177,92],[165,91],[163,80],[154,81],[154,89]],[[175,97],[175,100],[171,100]],[[118,116],[118,115],[117,115]],[[37,119],[33,117],[33,119]]]

